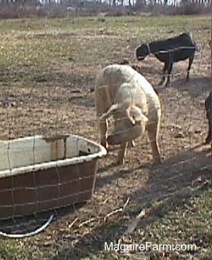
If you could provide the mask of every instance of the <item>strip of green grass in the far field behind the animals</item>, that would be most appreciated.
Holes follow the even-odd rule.
[[[98,17],[0,21],[0,66],[4,71],[0,71],[0,86],[19,81],[31,87],[34,74],[49,77],[52,70],[61,70],[61,64],[67,74],[70,66],[93,71],[99,64],[123,57],[135,59],[140,43],[184,31],[193,32],[195,41],[206,45],[209,27],[207,16],[105,17],[105,22]],[[57,81],[60,78],[54,79]]]

